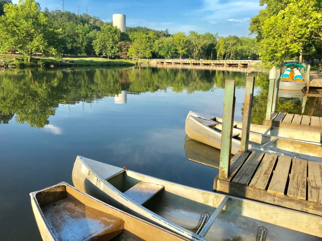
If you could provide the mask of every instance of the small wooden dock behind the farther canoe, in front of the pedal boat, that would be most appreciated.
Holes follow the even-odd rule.
[[[264,119],[263,125],[322,132],[322,117],[273,112],[270,120]]]

